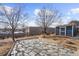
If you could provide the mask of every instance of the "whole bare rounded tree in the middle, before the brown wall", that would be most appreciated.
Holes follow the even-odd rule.
[[[52,25],[52,23],[60,21],[61,14],[57,10],[51,10],[42,8],[38,12],[38,17],[36,18],[36,24],[43,28],[43,33],[47,33],[47,28]]]

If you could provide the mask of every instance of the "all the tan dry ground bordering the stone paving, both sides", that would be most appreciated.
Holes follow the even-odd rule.
[[[79,40],[72,40],[71,37],[65,37],[65,36],[55,36],[55,35],[38,35],[38,36],[31,36],[31,37],[22,37],[22,38],[16,38],[16,40],[24,40],[28,38],[35,38],[38,37],[39,39],[45,39],[48,42],[57,43],[61,46],[64,46],[64,48],[69,48],[73,51],[78,51],[79,53]],[[0,55],[6,55],[8,51],[10,50],[12,46],[12,39],[4,39],[0,40]]]

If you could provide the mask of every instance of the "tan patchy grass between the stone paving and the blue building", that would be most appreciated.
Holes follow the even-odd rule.
[[[79,50],[79,40],[73,40],[68,36],[57,36],[57,35],[41,35],[41,38],[45,38],[48,42],[57,43],[64,46],[64,48],[69,48],[71,50]]]

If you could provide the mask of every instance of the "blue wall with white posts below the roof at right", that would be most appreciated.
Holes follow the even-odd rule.
[[[56,35],[76,36],[76,28],[74,26],[56,27]]]

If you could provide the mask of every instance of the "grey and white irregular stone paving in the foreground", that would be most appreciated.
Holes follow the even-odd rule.
[[[72,50],[59,47],[45,40],[31,39],[17,41],[11,56],[75,56]]]

